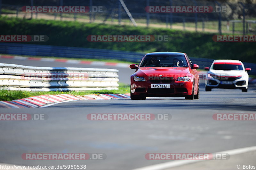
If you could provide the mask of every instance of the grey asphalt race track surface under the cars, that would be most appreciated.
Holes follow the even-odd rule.
[[[11,59],[1,59],[0,62],[28,66],[72,66]],[[125,68],[119,70],[123,82],[127,81],[123,76],[128,76],[129,80],[133,73]],[[169,161],[147,160],[147,153],[213,153],[255,146],[255,121],[212,118],[215,113],[255,113],[255,103],[254,85],[249,87],[248,92],[239,89],[205,92],[204,84],[200,84],[199,100],[181,97],[83,100],[45,108],[1,109],[0,113],[44,113],[48,119],[1,121],[0,162],[18,165],[86,164],[86,169],[128,170]],[[172,119],[100,121],[88,120],[86,116],[89,113],[168,113]],[[85,161],[23,160],[23,153],[105,153],[107,158]],[[241,154],[236,158],[243,160],[244,156]],[[251,158],[255,163],[255,152]],[[231,165],[229,169],[236,169],[236,162]]]

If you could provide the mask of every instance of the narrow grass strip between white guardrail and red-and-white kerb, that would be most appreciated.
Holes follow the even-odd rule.
[[[130,85],[124,84],[124,83],[118,83],[119,87],[118,90],[88,90],[88,91],[67,91],[67,92],[61,92],[61,91],[37,91],[37,92],[29,92],[29,91],[19,91],[19,90],[4,90],[0,89],[0,101],[12,101],[15,99],[21,99],[26,97],[32,97],[32,96],[40,96],[40,95],[58,95],[58,94],[71,94],[71,95],[89,95],[89,94],[108,94],[108,93],[130,93]]]

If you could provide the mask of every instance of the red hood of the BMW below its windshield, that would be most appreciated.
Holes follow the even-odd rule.
[[[183,77],[187,76],[187,67],[140,67],[137,71],[139,77]]]

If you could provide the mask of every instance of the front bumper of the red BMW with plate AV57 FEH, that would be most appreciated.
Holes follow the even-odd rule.
[[[168,83],[165,83],[164,81],[150,82],[149,80],[134,81],[133,77],[131,77],[131,93],[133,95],[141,95],[146,97],[185,97],[191,95],[193,78],[190,78],[189,81],[177,82],[175,80]],[[170,84],[170,88],[154,89],[151,88],[151,84]]]

